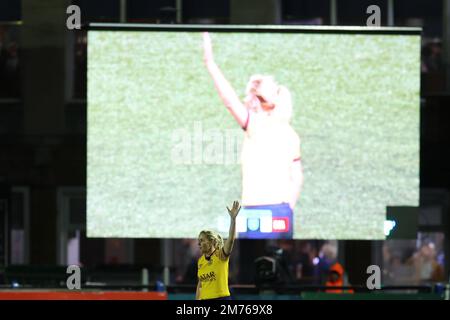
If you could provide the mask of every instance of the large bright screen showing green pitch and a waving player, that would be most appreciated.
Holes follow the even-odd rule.
[[[88,236],[226,236],[239,200],[240,238],[384,239],[419,203],[420,33],[327,30],[89,30]]]

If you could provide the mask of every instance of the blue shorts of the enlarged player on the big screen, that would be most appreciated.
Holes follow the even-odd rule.
[[[294,213],[287,203],[245,206],[239,213],[238,232],[240,239],[292,239],[294,235]]]

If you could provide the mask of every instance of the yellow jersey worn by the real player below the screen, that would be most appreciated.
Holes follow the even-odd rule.
[[[216,250],[209,260],[205,255],[198,259],[198,280],[201,283],[200,300],[230,296],[228,289],[228,262],[223,248]]]

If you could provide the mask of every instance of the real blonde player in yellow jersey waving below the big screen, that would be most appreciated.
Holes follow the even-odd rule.
[[[219,234],[204,230],[198,236],[198,245],[202,256],[198,260],[198,284],[195,298],[197,300],[230,300],[228,289],[228,262],[233,250],[236,233],[236,216],[241,210],[238,201],[228,208],[230,214],[230,232],[223,241]]]

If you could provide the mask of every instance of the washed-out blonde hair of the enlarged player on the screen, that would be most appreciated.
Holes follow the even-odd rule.
[[[260,102],[257,96],[261,96],[275,108],[273,114],[282,120],[289,122],[292,118],[292,97],[289,90],[275,82],[273,77],[255,74],[250,77],[245,89],[245,106],[254,112],[260,110]]]

